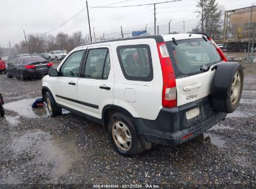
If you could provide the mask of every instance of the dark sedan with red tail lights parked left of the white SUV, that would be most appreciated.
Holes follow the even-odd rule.
[[[48,75],[49,69],[53,63],[39,56],[18,57],[12,63],[8,63],[6,75],[19,77],[21,80],[29,78],[40,78]]]

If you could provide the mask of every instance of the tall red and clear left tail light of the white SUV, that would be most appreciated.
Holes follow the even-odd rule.
[[[157,46],[163,74],[162,106],[164,108],[173,108],[177,106],[177,90],[173,65],[166,44],[164,42],[158,43]]]

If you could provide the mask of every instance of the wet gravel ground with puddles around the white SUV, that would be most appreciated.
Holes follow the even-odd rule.
[[[30,183],[255,188],[255,66],[245,73],[239,108],[225,121],[185,144],[156,145],[134,158],[116,154],[98,124],[67,111],[50,118],[45,109],[32,110],[41,80],[0,75],[6,103],[0,118],[0,188],[13,183],[18,188]]]

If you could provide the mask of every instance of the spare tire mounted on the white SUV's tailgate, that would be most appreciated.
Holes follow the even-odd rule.
[[[244,86],[244,69],[240,63],[220,63],[214,75],[211,104],[216,112],[232,113],[237,109]]]

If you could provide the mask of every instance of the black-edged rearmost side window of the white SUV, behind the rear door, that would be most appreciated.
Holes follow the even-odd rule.
[[[149,45],[127,45],[117,49],[121,70],[126,80],[153,80],[153,66]]]

